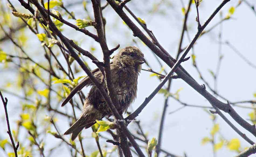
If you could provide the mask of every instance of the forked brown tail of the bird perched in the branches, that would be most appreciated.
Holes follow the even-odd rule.
[[[71,134],[71,140],[74,141],[83,128],[87,129],[95,124],[96,117],[92,116],[81,116],[65,133],[64,135]]]

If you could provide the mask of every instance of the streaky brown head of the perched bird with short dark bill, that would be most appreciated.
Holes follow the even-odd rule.
[[[115,55],[114,60],[120,62],[124,67],[134,67],[141,70],[141,64],[145,63],[144,54],[135,46],[128,46]]]

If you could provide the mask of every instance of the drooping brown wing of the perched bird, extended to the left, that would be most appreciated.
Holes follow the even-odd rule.
[[[100,72],[99,68],[91,71],[91,73],[94,76],[98,72]],[[64,102],[61,104],[61,106],[64,106],[65,104],[67,104],[72,99],[72,97],[75,95],[75,93],[82,90],[86,85],[91,85],[91,84],[92,84],[91,79],[88,76],[86,76],[81,82],[78,83],[77,86],[75,86],[75,88],[70,92],[70,94],[67,96],[67,98],[64,100]]]

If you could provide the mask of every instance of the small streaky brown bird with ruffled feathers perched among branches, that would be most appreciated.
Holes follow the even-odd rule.
[[[129,46],[120,50],[110,63],[113,86],[116,90],[117,99],[120,102],[120,107],[117,108],[120,114],[127,111],[130,104],[136,98],[137,79],[141,71],[141,64],[146,62],[143,57],[144,55],[139,48]],[[102,80],[103,76],[98,68],[91,72],[98,81]],[[87,129],[95,124],[95,120],[112,116],[110,108],[104,101],[98,88],[92,83],[88,76],[71,91],[70,95],[68,95],[61,106],[68,103],[75,93],[82,90],[85,86],[92,86],[92,88],[85,99],[81,116],[64,133],[64,135],[72,133],[72,141],[78,136],[83,128]],[[105,82],[102,83],[102,86],[107,91]]]

